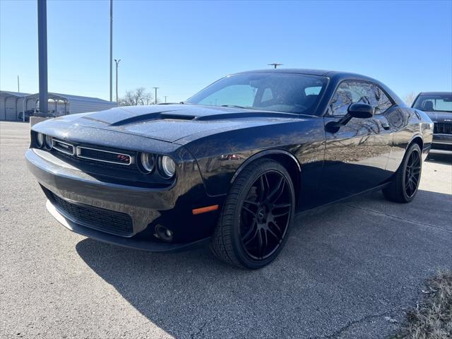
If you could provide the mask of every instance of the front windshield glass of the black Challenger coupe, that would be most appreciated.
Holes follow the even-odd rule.
[[[187,103],[314,114],[328,78],[305,74],[249,73],[227,76]]]

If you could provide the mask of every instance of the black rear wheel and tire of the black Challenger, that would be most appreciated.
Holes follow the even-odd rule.
[[[383,196],[396,203],[410,203],[417,194],[422,173],[422,152],[413,143],[408,148],[393,182],[383,189]]]

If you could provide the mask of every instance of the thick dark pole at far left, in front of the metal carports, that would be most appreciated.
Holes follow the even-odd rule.
[[[47,115],[47,0],[37,0],[37,54],[39,59],[40,114]],[[25,109],[23,109],[25,116]]]

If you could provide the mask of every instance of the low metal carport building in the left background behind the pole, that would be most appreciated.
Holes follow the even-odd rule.
[[[39,93],[18,93],[0,90],[0,120],[18,120],[24,111],[39,109]],[[97,97],[49,93],[49,113],[54,117],[66,114],[96,112],[116,107],[116,102]],[[25,107],[25,108],[24,108]],[[23,114],[20,114],[23,116]]]

